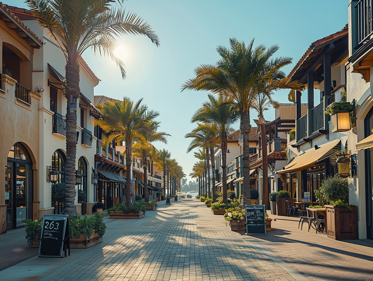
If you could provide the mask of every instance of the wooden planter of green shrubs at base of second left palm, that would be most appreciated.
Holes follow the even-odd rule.
[[[146,206],[144,200],[138,200],[131,205],[126,205],[126,203],[123,202],[107,209],[110,218],[115,219],[141,219],[145,216],[145,210]]]

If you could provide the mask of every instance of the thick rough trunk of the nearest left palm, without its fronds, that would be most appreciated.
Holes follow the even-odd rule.
[[[66,64],[66,88],[67,99],[66,113],[66,192],[65,214],[75,216],[75,162],[76,162],[76,112],[70,112],[70,96],[73,102],[79,97],[79,65]]]

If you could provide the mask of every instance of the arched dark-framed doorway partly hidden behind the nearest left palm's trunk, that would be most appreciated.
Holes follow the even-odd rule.
[[[59,172],[57,182],[52,184],[52,207],[55,214],[60,214],[65,206],[66,190],[66,156],[62,150],[57,149],[52,154],[51,168]]]

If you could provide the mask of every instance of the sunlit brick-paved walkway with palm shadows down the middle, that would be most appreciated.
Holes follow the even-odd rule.
[[[142,219],[105,222],[102,243],[62,259],[31,257],[0,280],[373,280],[372,248],[300,231],[291,219],[273,221],[266,236],[247,236],[184,199]]]

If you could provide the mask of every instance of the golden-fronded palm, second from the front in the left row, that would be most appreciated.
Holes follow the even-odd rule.
[[[109,137],[116,141],[125,141],[126,146],[126,204],[131,204],[131,165],[132,145],[134,141],[146,142],[143,131],[151,132],[154,119],[159,113],[148,110],[142,99],[134,103],[128,97],[123,101],[106,102],[100,107],[102,119],[94,119],[94,124],[100,126]],[[146,188],[145,188],[146,189]]]

